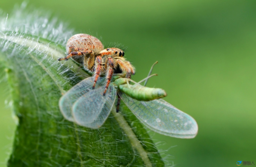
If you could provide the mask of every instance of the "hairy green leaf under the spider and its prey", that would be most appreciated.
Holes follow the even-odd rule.
[[[25,4],[0,18],[0,65],[6,73],[17,128],[8,166],[171,166],[147,129],[123,103],[99,129],[64,119],[60,97],[89,75],[65,57],[76,34]]]

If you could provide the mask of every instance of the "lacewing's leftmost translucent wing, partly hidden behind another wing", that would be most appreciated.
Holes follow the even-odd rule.
[[[99,77],[96,86],[101,86],[101,83],[103,83],[103,81],[104,78]],[[74,118],[72,116],[72,106],[79,97],[92,90],[93,82],[94,78],[88,77],[82,80],[81,82],[77,83],[60,98],[60,111],[68,121],[74,122]]]

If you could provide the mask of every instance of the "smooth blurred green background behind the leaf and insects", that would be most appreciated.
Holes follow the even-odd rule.
[[[11,13],[19,0],[1,0]],[[195,139],[165,141],[158,148],[185,166],[256,164],[256,1],[254,0],[31,0],[28,6],[52,12],[77,33],[127,46],[136,68],[133,80],[147,76],[149,87],[166,90],[166,101],[193,116]],[[0,166],[5,166],[15,128],[6,83],[0,89]]]

